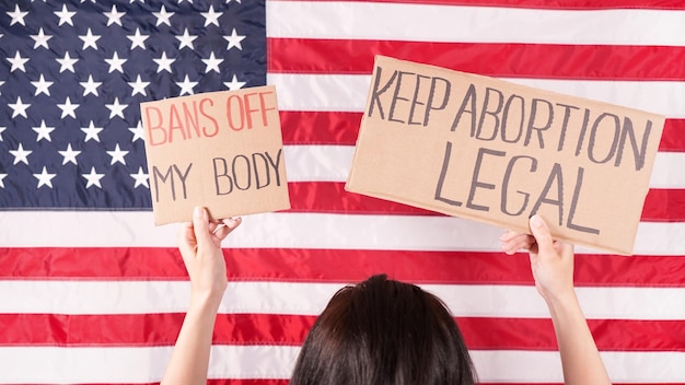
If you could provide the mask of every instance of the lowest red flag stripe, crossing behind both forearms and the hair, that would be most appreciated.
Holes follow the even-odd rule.
[[[184,314],[62,315],[2,314],[0,346],[173,346]],[[315,316],[219,314],[216,345],[300,346]],[[469,349],[557,350],[548,318],[460,317]],[[590,319],[600,350],[685,351],[680,320]]]

